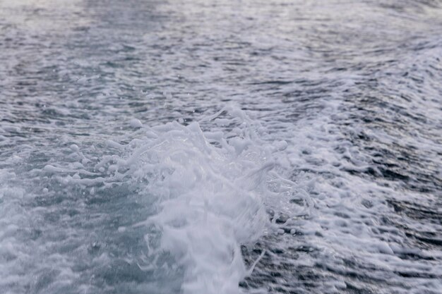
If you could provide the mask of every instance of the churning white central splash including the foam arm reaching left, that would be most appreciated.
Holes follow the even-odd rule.
[[[184,294],[241,293],[239,282],[253,270],[244,264],[241,245],[273,228],[265,202],[291,183],[272,171],[275,153],[287,143],[264,142],[260,125],[233,107],[201,124],[209,131],[197,122],[152,128],[137,123],[143,136],[107,142],[115,154],[88,158],[71,145],[78,161],[54,162],[39,172],[61,185],[78,185],[92,198],[116,186],[136,187],[136,197],[150,199],[154,207],[145,221],[117,229],[118,234],[148,228],[148,252],[130,263],[146,275],[162,272],[162,285],[183,269]]]

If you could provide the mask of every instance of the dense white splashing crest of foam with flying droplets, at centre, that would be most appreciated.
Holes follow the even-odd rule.
[[[259,141],[253,122],[233,107],[201,122],[213,126],[222,114],[229,116],[223,123],[235,125],[232,132],[167,123],[129,143],[126,159],[107,157],[97,164],[111,171],[108,182],[129,177],[148,183],[145,197],[155,197],[157,214],[144,224],[160,232],[160,238],[145,236],[149,257],[168,252],[184,267],[185,294],[240,293],[239,282],[250,274],[240,246],[269,225],[263,201],[275,194],[267,180],[275,166],[272,153],[280,147]]]

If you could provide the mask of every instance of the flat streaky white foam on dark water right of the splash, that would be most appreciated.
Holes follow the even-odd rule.
[[[442,273],[439,262],[441,252],[410,242],[401,226],[422,232],[423,235],[440,236],[440,224],[395,214],[390,202],[402,200],[431,207],[431,204],[438,202],[438,195],[423,197],[419,192],[401,188],[400,183],[387,180],[375,182],[368,176],[364,178],[349,173],[362,173],[369,168],[376,169],[376,166],[366,153],[349,140],[346,131],[362,133],[381,142],[390,137],[381,131],[374,133],[356,123],[347,129],[337,125],[335,121],[338,118],[343,119],[348,115],[340,112],[339,106],[338,102],[330,103],[321,113],[322,116],[300,120],[297,128],[290,130],[293,139],[287,137],[288,147],[280,156],[287,158],[292,166],[292,169],[287,169],[292,176],[287,177],[296,181],[297,185],[279,197],[278,204],[273,203],[275,209],[287,214],[287,221],[281,225],[284,230],[280,230],[282,236],[277,238],[273,246],[282,252],[309,248],[313,253],[301,254],[292,262],[295,267],[316,267],[335,274],[333,279],[318,287],[321,293],[346,291],[348,283],[344,278],[355,273],[366,276],[367,281],[369,278],[374,281],[390,280],[390,288],[380,289],[376,293],[403,293],[404,288],[408,293],[436,293],[431,291],[441,289],[441,282],[434,278]],[[425,141],[420,143],[428,149],[433,144]],[[299,214],[287,206],[289,202],[299,200],[304,200],[306,208],[309,208],[305,214]],[[294,228],[293,231],[290,228]],[[295,232],[302,238],[293,236]],[[275,259],[275,263],[287,262],[288,253],[283,257],[272,253],[269,255]],[[421,258],[406,259],[404,255]],[[362,264],[361,269],[352,268],[352,262]],[[408,276],[419,278],[410,279]],[[292,276],[284,278],[292,279]],[[280,283],[285,281],[279,281],[278,286]],[[358,283],[355,284],[359,286]],[[361,289],[370,287],[366,286],[369,283],[361,285]]]

